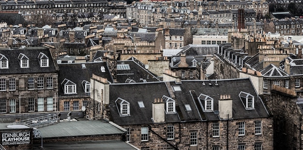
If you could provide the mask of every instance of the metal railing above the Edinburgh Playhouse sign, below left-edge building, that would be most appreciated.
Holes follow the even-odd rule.
[[[31,118],[27,120],[16,121],[13,124],[26,124],[30,127],[40,126],[45,124],[53,124],[58,122],[57,114],[47,114],[45,116]]]

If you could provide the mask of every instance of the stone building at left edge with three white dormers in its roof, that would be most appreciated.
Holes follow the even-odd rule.
[[[58,110],[58,70],[48,48],[1,49],[0,56],[2,115]]]

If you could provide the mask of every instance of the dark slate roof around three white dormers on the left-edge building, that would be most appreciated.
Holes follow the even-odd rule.
[[[20,68],[18,56],[22,53],[29,58],[29,68]],[[44,53],[49,59],[49,67],[40,67],[38,56]],[[8,59],[9,69],[0,69],[0,74],[34,74],[57,72],[51,53],[46,47],[0,48],[0,54]]]

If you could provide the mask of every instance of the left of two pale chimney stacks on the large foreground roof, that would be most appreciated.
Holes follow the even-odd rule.
[[[152,120],[154,123],[165,121],[165,104],[162,98],[155,98],[152,103]]]

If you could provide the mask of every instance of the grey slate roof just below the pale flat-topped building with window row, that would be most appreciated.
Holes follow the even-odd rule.
[[[214,54],[218,51],[219,45],[186,45],[182,47],[181,51],[177,54],[185,53],[186,56],[204,56]]]

